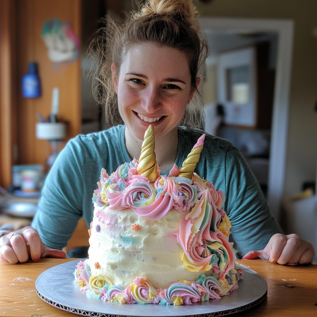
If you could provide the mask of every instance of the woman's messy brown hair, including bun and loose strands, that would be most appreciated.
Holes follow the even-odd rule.
[[[180,125],[204,129],[204,105],[201,91],[196,87],[196,77],[207,57],[208,45],[199,35],[199,24],[194,18],[196,13],[191,0],[149,0],[121,25],[109,17],[105,18],[106,26],[99,29],[90,49],[97,60],[97,68],[92,72],[94,96],[101,105],[105,105],[109,125],[122,123],[111,64],[115,62],[116,72],[119,72],[121,62],[132,45],[155,43],[178,49],[187,56],[191,87],[196,91],[186,106]]]

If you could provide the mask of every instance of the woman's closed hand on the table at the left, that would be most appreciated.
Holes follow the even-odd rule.
[[[49,249],[42,242],[38,232],[32,227],[10,232],[0,238],[0,261],[17,263],[26,262],[29,257],[38,261],[43,257],[65,258],[65,252]]]

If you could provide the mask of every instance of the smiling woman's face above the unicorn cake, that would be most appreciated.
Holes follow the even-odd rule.
[[[179,124],[195,92],[183,52],[152,43],[135,44],[126,52],[119,74],[115,68],[113,63],[114,88],[126,133],[143,140],[151,123],[159,139]]]

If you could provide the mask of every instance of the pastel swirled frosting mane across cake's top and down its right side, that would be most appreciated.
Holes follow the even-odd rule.
[[[138,175],[138,164],[134,159],[120,165],[110,177],[102,169],[93,201],[111,210],[131,208],[150,220],[158,220],[172,209],[184,212],[177,233],[184,267],[227,274],[234,266],[235,252],[228,242],[231,224],[222,209],[223,192],[196,173],[191,180],[161,175],[150,183]]]

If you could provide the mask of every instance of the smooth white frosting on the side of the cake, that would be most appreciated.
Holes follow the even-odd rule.
[[[176,232],[183,214],[171,210],[159,220],[148,220],[131,209],[112,211],[95,204],[88,251],[92,275],[104,274],[123,288],[137,276],[147,277],[155,288],[168,288],[179,280],[196,281],[202,272],[188,271],[179,257]],[[139,230],[134,231],[133,224]]]

